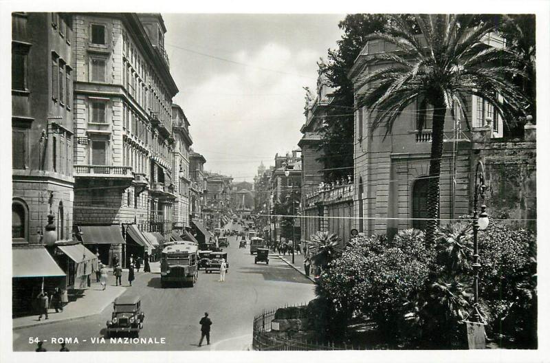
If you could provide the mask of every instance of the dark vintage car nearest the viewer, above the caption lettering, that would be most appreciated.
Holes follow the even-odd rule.
[[[143,329],[145,314],[141,310],[140,296],[120,296],[113,303],[111,320],[107,320],[107,338],[115,333],[129,333],[139,336]]]

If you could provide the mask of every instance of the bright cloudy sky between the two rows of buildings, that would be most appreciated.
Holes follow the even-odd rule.
[[[305,91],[336,48],[340,14],[162,14],[170,72],[206,170],[256,175],[297,148]]]

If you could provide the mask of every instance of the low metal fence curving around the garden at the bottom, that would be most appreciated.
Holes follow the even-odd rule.
[[[300,307],[304,305],[293,305]],[[316,340],[300,337],[281,337],[272,333],[272,322],[277,309],[265,310],[254,317],[252,328],[252,348],[255,351],[339,351],[357,349],[354,347],[337,347],[334,343],[320,344]]]

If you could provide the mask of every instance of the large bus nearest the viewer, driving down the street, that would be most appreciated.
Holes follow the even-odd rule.
[[[184,283],[193,286],[199,276],[199,247],[189,241],[178,241],[162,250],[160,261],[160,285]]]

